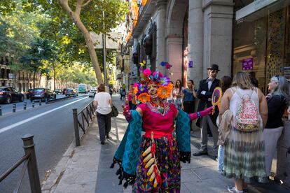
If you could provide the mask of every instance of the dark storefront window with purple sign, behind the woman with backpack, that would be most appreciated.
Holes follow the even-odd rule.
[[[235,22],[233,76],[254,72],[264,93],[272,76],[290,80],[289,11],[289,5],[275,3]]]

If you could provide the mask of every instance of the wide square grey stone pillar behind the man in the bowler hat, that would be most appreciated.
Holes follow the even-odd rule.
[[[210,64],[218,64],[221,76],[230,76],[232,57],[233,0],[203,0],[204,56],[203,76]]]

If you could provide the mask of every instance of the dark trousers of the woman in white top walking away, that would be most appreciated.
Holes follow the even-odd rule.
[[[111,113],[106,115],[97,113],[97,124],[99,125],[99,139],[105,141],[106,135],[111,131]]]

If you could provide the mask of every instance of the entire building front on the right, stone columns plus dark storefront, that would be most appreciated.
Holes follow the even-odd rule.
[[[219,65],[219,78],[254,72],[264,93],[271,76],[290,79],[289,1],[132,0],[130,6],[131,82],[143,60],[184,85],[207,78],[211,64]],[[163,61],[172,64],[170,71]]]

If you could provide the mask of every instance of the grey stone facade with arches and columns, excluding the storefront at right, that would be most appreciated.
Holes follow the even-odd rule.
[[[174,82],[182,80],[184,85],[188,79],[198,83],[206,78],[210,64],[219,64],[221,76],[230,74],[233,1],[136,2],[137,22],[127,39],[132,49],[131,74],[138,75],[143,60],[147,68],[158,69]],[[172,69],[166,70],[160,62],[169,62]]]

